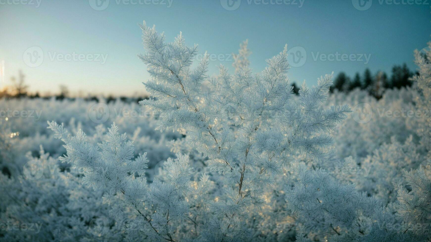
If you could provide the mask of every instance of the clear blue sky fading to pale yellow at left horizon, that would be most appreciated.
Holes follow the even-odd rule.
[[[332,71],[353,76],[368,67],[373,73],[389,73],[394,64],[404,62],[415,70],[413,50],[426,47],[431,34],[430,0],[413,5],[370,0],[372,5],[365,11],[354,7],[357,0],[301,0],[301,7],[299,0],[296,5],[282,1],[271,4],[276,0],[263,0],[269,4],[237,0],[231,3],[240,5],[232,11],[223,8],[226,0],[170,0],[170,7],[168,0],[159,0],[165,5],[108,0],[109,5],[100,11],[91,7],[94,0],[37,0],[41,1],[38,7],[36,0],[31,1],[34,5],[0,0],[0,63],[4,61],[6,84],[22,70],[30,90],[42,94],[59,92],[61,84],[73,93],[144,93],[142,82],[149,75],[137,58],[145,52],[137,26],[143,20],[164,31],[169,42],[182,31],[187,45],[199,44],[200,53],[206,50],[222,54],[223,59],[210,62],[211,74],[217,73],[219,64],[233,69],[228,54],[236,53],[245,39],[253,52],[249,59],[255,72],[265,67],[265,59],[282,51],[284,44],[288,49],[301,46],[306,51],[306,62],[292,67],[288,76],[297,83],[306,80],[309,85]],[[23,58],[32,46],[44,53],[37,67],[29,67]],[[356,54],[365,54],[370,59],[367,64],[363,57],[363,61],[315,61],[318,52],[354,54],[357,58],[360,55]],[[107,58],[104,64],[51,61],[54,55],[68,53],[102,54]]]

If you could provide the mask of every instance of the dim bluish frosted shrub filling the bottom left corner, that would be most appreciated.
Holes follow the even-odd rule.
[[[4,241],[103,241],[99,217],[109,217],[102,192],[81,185],[81,176],[61,170],[57,159],[41,147],[38,157],[27,154],[22,175],[0,175],[0,238]],[[38,166],[36,172],[34,167]],[[112,221],[112,218],[109,217]],[[19,227],[20,229],[17,229]],[[118,230],[106,231],[121,240]]]

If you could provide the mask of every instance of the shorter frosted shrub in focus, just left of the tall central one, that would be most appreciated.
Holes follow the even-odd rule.
[[[72,136],[55,122],[49,123],[49,128],[66,143],[67,154],[60,159],[81,167],[83,183],[103,192],[116,226],[131,241],[173,240],[178,237],[175,233],[193,227],[184,223],[186,218],[196,223],[196,217],[193,220],[189,215],[193,212],[190,207],[205,200],[211,182],[206,174],[199,181],[191,181],[193,172],[187,155],[167,160],[165,178],[169,182],[156,179],[148,185],[144,176],[147,154],[132,159],[133,143],[126,141],[125,134],[119,135],[115,123],[108,129],[107,140],[98,146],[87,143],[82,131]],[[182,226],[178,228],[178,224]]]

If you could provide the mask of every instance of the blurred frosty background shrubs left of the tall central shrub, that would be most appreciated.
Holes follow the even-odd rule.
[[[105,104],[103,98],[100,104]],[[84,101],[81,98],[75,101],[63,99],[56,100],[42,98],[0,99],[0,170],[4,174],[11,172],[16,175],[28,161],[25,154],[28,151],[34,156],[39,153],[39,146],[43,145],[46,153],[53,157],[62,156],[66,152],[62,142],[47,132],[46,121],[56,120],[67,123],[68,129],[76,133],[82,129],[88,135],[96,138],[94,144],[103,140],[98,134],[106,132],[105,126],[94,122],[89,115],[96,101]],[[173,157],[166,143],[181,137],[178,133],[160,133],[154,130],[157,114],[151,113],[137,103],[127,103],[117,99],[106,104],[105,123],[116,122],[123,130],[128,132],[129,138],[135,141],[135,153],[149,152],[150,167],[157,162]],[[15,114],[14,114],[14,111]]]

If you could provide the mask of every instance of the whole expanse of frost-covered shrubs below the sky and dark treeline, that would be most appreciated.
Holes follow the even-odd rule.
[[[213,74],[141,28],[149,99],[0,99],[0,240],[430,241],[431,52],[379,99],[295,95],[286,48]]]

